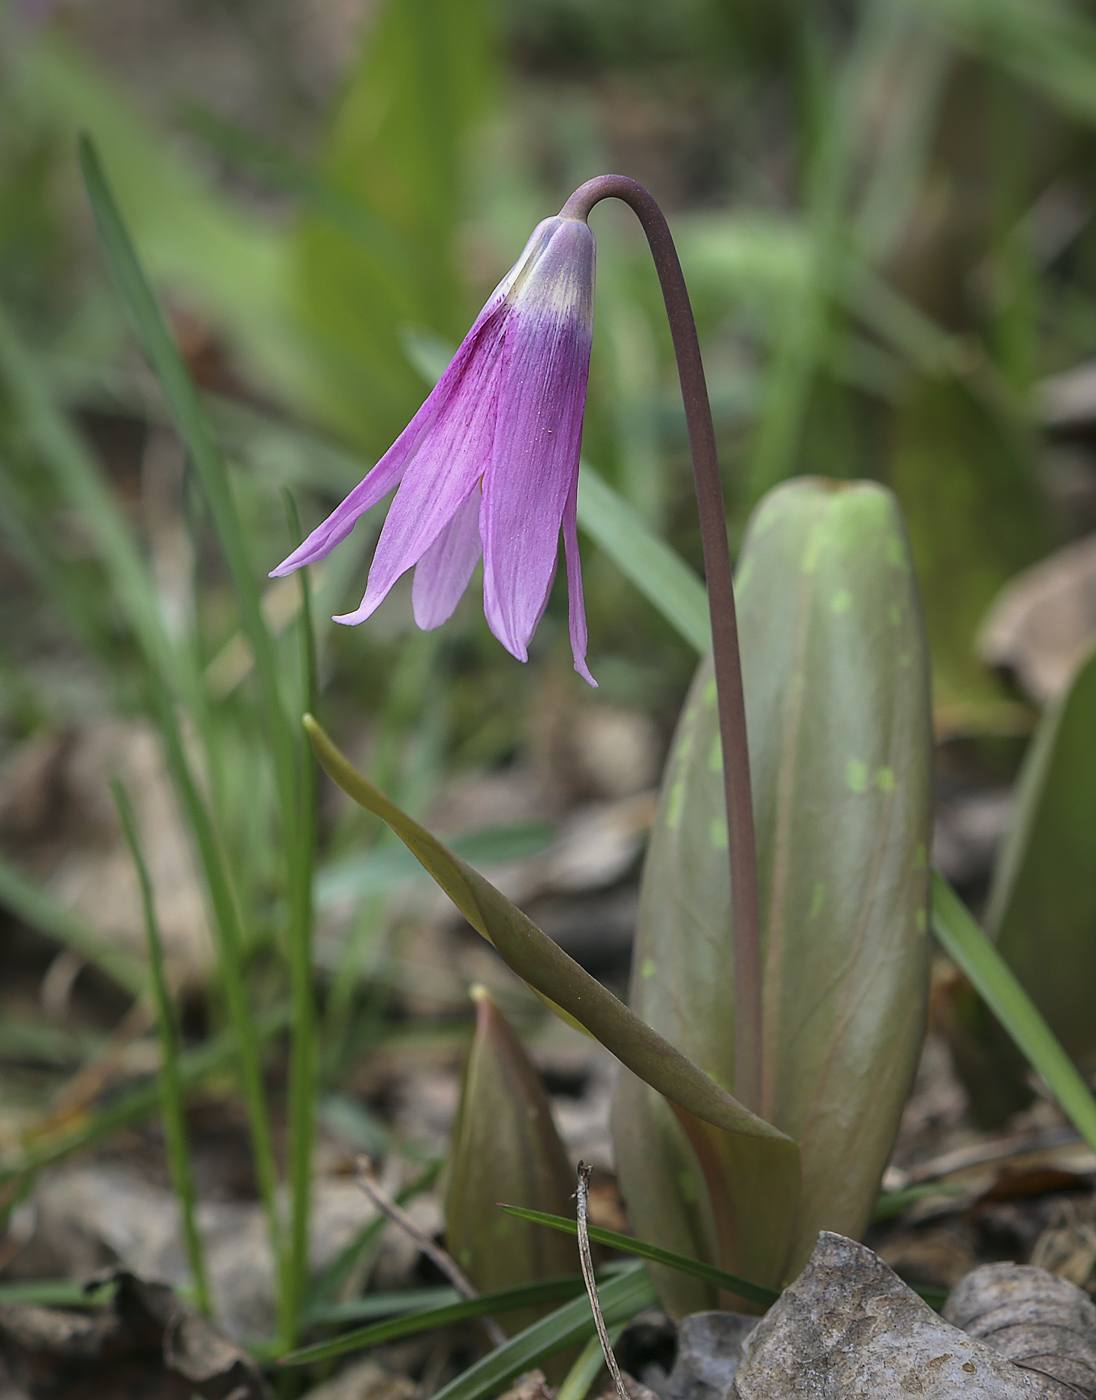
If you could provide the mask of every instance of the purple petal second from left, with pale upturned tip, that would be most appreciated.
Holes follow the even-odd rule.
[[[490,459],[503,370],[503,330],[512,312],[484,329],[428,437],[407,463],[377,542],[361,606],[336,622],[364,622],[400,574],[426,554],[477,486]]]

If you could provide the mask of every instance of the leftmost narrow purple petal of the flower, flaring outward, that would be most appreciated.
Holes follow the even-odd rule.
[[[500,283],[500,290],[504,286],[505,280]],[[294,568],[301,568],[302,564],[314,564],[318,559],[325,559],[336,545],[342,545],[360,517],[382,497],[388,496],[393,486],[399,484],[407,463],[423,444],[423,440],[431,433],[438,417],[445,413],[452,399],[462,389],[469,361],[480,351],[482,342],[484,339],[494,339],[498,333],[498,325],[505,321],[508,308],[500,311],[503,302],[500,290],[496,290],[487,305],[476,316],[472,329],[461,342],[461,347],[445,374],[438,379],[423,406],[388,452],[385,452],[377,466],[354,487],[346,500],[340,505],[336,505],[325,521],[316,525],[308,539],[298,545],[277,568],[270,570],[272,578],[281,578],[286,574],[291,574]]]

